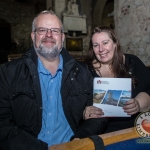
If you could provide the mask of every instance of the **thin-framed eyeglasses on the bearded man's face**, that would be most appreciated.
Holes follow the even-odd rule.
[[[51,34],[53,34],[53,35],[59,35],[62,33],[62,30],[59,28],[51,28],[51,29],[37,28],[34,30],[34,32],[37,32],[39,35],[45,35],[45,34],[47,34],[48,30],[50,30]]]

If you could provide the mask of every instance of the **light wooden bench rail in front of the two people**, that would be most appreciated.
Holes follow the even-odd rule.
[[[139,137],[134,128],[128,128],[99,136],[103,139],[105,146]],[[90,138],[84,138],[63,144],[53,145],[50,147],[50,150],[95,150],[95,147]]]

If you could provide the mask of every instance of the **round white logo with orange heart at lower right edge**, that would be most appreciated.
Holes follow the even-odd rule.
[[[150,139],[150,111],[138,115],[135,120],[135,128],[141,137]]]

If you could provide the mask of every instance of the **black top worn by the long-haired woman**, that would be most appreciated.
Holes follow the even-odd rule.
[[[137,84],[132,85],[132,98],[140,92],[146,92],[150,95],[150,70],[143,64],[143,62],[135,55],[125,55],[125,67],[130,67],[132,76],[137,79]],[[95,70],[90,69],[93,78],[99,77]],[[108,117],[108,124],[104,133],[122,130],[134,126],[135,119],[139,113],[131,117]]]

